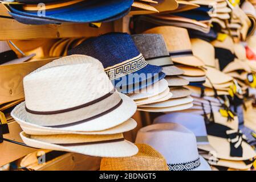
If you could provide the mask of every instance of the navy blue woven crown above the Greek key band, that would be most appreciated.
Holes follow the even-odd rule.
[[[68,51],[68,55],[74,54],[92,56],[107,68],[133,59],[140,52],[129,34],[114,32],[87,39]]]

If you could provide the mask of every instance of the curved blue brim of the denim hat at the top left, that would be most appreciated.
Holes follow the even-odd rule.
[[[111,0],[111,1],[100,1],[101,3],[94,3],[88,5],[88,2],[80,3],[80,6],[76,7],[71,11],[66,11],[63,13],[56,13],[51,15],[46,15],[43,18],[50,20],[57,20],[60,22],[76,22],[76,23],[88,23],[88,22],[99,22],[100,20],[105,20],[112,18],[127,9],[130,9],[133,1],[123,1],[123,0]],[[74,5],[77,6],[77,5]],[[37,14],[26,13],[26,11],[19,10],[17,6],[9,5],[11,11],[15,14],[30,16],[34,18],[40,18]],[[67,7],[66,7],[67,8]],[[70,8],[70,6],[68,6]],[[95,16],[97,14],[97,16]]]

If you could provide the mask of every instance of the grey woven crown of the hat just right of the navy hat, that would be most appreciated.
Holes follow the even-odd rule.
[[[146,60],[169,56],[164,38],[160,34],[136,34],[132,35],[132,39]]]

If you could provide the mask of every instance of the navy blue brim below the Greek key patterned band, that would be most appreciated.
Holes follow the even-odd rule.
[[[121,93],[133,93],[164,78],[165,74],[161,71],[161,67],[147,64],[136,72],[112,80],[112,83]]]

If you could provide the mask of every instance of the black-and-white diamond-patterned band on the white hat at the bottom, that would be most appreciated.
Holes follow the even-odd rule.
[[[200,158],[198,157],[196,160],[178,163],[178,164],[167,164],[169,171],[191,171],[193,169],[198,168],[201,165]]]

